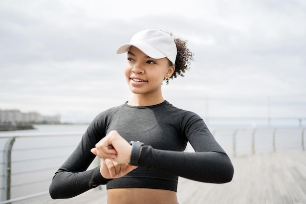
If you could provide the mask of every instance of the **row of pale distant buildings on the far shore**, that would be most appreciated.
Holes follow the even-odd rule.
[[[41,115],[37,112],[22,113],[19,110],[0,110],[0,123],[25,122],[25,123],[60,123],[60,115]]]

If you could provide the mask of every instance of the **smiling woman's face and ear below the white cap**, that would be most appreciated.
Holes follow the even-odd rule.
[[[174,66],[169,66],[165,58],[153,59],[137,47],[131,46],[124,69],[130,90],[136,94],[161,94],[164,79],[174,72]]]

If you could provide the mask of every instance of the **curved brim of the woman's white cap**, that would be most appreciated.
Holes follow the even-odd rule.
[[[161,53],[159,50],[155,49],[153,46],[144,44],[144,43],[137,43],[137,44],[127,43],[127,44],[121,45],[117,50],[117,54],[128,52],[131,46],[137,47],[143,53],[145,53],[146,55],[148,55],[149,57],[153,59],[161,59],[161,58],[166,57],[166,55]]]

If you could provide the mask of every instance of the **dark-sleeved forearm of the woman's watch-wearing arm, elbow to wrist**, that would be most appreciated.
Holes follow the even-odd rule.
[[[211,183],[229,182],[234,174],[232,162],[223,152],[174,152],[143,146],[139,165]]]

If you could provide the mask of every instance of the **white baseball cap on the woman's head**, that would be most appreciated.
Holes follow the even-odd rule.
[[[158,29],[147,29],[136,33],[130,43],[121,45],[117,54],[128,52],[131,46],[135,46],[153,59],[167,57],[175,65],[176,45],[174,39]]]

